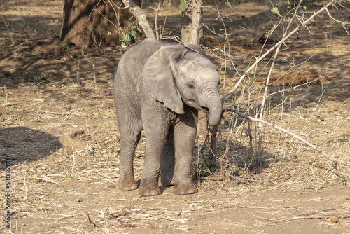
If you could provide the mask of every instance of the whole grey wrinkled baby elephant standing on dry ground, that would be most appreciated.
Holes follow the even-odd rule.
[[[176,194],[197,192],[191,181],[197,113],[203,107],[209,109],[209,124],[218,124],[218,83],[214,65],[195,46],[146,39],[127,50],[114,80],[120,189],[137,189],[132,164],[144,130],[146,152],[139,193],[160,194],[159,175],[163,186],[174,185]]]

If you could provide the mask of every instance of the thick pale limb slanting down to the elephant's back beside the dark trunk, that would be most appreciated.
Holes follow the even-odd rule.
[[[123,0],[123,3],[125,7],[129,8],[129,11],[132,13],[132,15],[137,18],[137,21],[139,22],[139,25],[142,27],[142,29],[144,29],[144,33],[146,34],[147,38],[155,39],[153,29],[146,19],[146,13],[144,13],[144,11],[142,11],[142,9],[137,6],[137,4],[135,4],[132,0]]]

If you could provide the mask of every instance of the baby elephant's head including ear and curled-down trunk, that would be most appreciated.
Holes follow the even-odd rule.
[[[183,114],[183,102],[209,110],[209,125],[221,119],[219,76],[202,50],[192,45],[164,44],[142,71],[146,91],[172,111]]]

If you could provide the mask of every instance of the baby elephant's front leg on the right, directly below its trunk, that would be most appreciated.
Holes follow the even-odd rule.
[[[188,116],[177,123],[174,128],[175,145],[175,170],[174,170],[174,193],[191,194],[197,193],[197,186],[191,179],[191,165],[193,147],[197,133],[197,115]]]

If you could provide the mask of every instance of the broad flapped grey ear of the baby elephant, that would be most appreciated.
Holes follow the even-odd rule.
[[[142,70],[146,91],[172,111],[183,114],[181,94],[176,86],[169,60],[186,53],[183,46],[162,46],[148,58]]]

